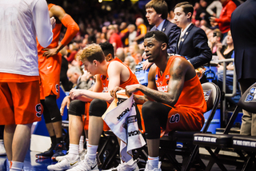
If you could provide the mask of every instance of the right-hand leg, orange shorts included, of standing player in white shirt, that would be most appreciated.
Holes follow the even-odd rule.
[[[10,171],[12,171],[23,169],[23,161],[30,145],[31,125],[34,121],[41,121],[42,113],[38,81],[10,83],[10,89],[14,101],[14,122],[16,127],[14,130],[14,125],[6,125],[5,133],[10,132],[11,135],[14,130],[11,143]]]

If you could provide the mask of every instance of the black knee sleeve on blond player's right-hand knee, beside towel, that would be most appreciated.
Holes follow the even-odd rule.
[[[106,101],[94,99],[90,102],[89,115],[94,117],[102,117],[102,115],[106,112],[106,109]]]

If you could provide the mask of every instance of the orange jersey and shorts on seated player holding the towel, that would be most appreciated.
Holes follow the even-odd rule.
[[[160,76],[160,69],[157,67],[155,72],[155,82],[159,91],[167,92],[170,82],[170,66],[174,58],[171,56],[167,62],[166,70]],[[202,85],[197,75],[184,82],[182,93],[177,103],[171,107],[168,113],[166,130],[162,130],[162,135],[171,130],[200,130],[204,124],[203,113],[207,110],[204,99]]]

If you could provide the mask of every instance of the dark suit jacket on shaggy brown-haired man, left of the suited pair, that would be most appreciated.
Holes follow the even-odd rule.
[[[152,27],[150,31],[156,30],[156,26]],[[168,37],[168,49],[167,53],[168,54],[174,54],[176,50],[176,41],[178,39],[178,35],[180,34],[181,30],[176,26],[176,24],[170,22],[169,20],[166,19],[166,21],[163,23],[162,30],[163,33],[166,34]]]

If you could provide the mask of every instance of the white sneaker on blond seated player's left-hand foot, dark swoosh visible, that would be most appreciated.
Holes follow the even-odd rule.
[[[74,161],[71,161],[69,157],[65,157],[64,159],[62,159],[62,161],[58,161],[58,163],[56,163],[55,165],[48,165],[47,169],[48,170],[71,169],[71,168],[74,168],[75,166],[77,166],[79,162],[80,162],[79,157]]]

